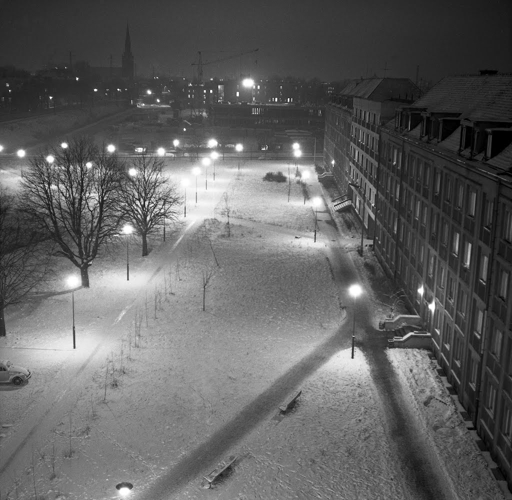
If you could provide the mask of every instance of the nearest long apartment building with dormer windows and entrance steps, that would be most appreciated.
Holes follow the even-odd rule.
[[[512,75],[443,78],[378,157],[377,258],[512,486]]]

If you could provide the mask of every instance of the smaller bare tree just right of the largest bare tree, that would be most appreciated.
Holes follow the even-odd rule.
[[[163,174],[164,161],[156,156],[132,159],[133,175],[121,183],[122,210],[142,237],[142,256],[147,255],[147,236],[165,221],[178,220],[182,197],[178,185]]]

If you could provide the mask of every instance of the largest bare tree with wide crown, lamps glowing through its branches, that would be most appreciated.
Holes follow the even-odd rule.
[[[89,266],[119,231],[119,181],[124,164],[92,139],[75,137],[30,159],[21,182],[22,209],[58,248],[54,255],[80,269],[89,286]]]

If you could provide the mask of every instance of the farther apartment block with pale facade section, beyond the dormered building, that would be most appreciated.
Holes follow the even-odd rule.
[[[333,96],[326,109],[324,161],[366,228],[375,230],[380,124],[401,103],[412,103],[419,89],[408,78],[354,80]]]

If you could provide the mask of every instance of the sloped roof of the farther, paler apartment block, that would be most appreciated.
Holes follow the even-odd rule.
[[[352,80],[340,94],[373,101],[385,101],[405,99],[406,95],[412,99],[414,94],[419,94],[419,89],[409,78],[365,78]]]

